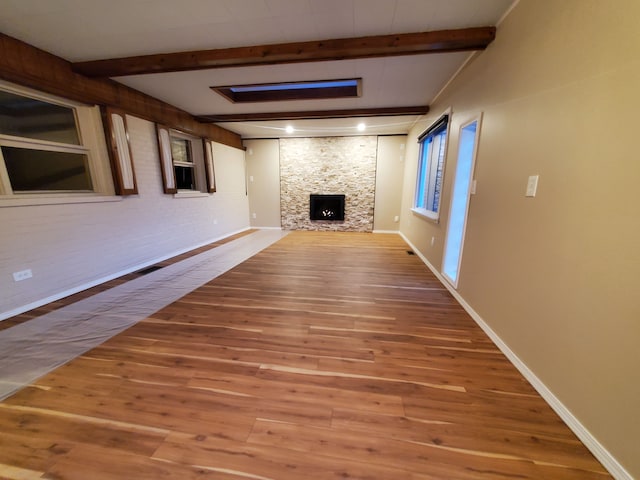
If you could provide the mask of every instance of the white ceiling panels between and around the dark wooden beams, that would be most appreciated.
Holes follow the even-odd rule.
[[[496,25],[514,0],[0,0],[0,31],[69,61]],[[498,31],[498,35],[499,35]],[[115,78],[194,115],[429,105],[470,53]],[[352,99],[232,104],[210,86],[362,78]],[[416,116],[225,123],[245,138],[406,133]]]

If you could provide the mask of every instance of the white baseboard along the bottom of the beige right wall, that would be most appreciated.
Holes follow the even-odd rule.
[[[576,434],[582,443],[591,451],[594,457],[606,468],[616,480],[633,480],[631,474],[611,455],[611,453],[591,434],[591,432],[571,413],[549,388],[540,380],[527,365],[509,348],[509,346],[498,336],[496,332],[484,321],[484,319],[469,305],[464,298],[455,290],[449,282],[445,280],[442,274],[427,260],[427,258],[409,241],[402,233],[399,235],[411,247],[422,262],[431,270],[431,272],[440,280],[447,290],[460,303],[462,308],[473,318],[473,320],[482,328],[487,336],[495,343],[500,351],[509,359],[509,361],[520,371],[520,373],[529,381],[536,389],[540,396],[549,404],[549,406],[560,416],[567,426]]]

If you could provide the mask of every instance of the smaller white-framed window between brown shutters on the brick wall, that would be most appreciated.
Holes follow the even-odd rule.
[[[157,125],[165,193],[215,192],[210,140]]]

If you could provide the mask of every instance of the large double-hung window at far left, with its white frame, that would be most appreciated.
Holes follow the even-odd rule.
[[[98,131],[97,107],[0,84],[2,199],[112,194]]]

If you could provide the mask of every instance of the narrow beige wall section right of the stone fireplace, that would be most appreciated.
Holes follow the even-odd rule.
[[[406,135],[378,137],[373,231],[397,232],[400,226]]]

